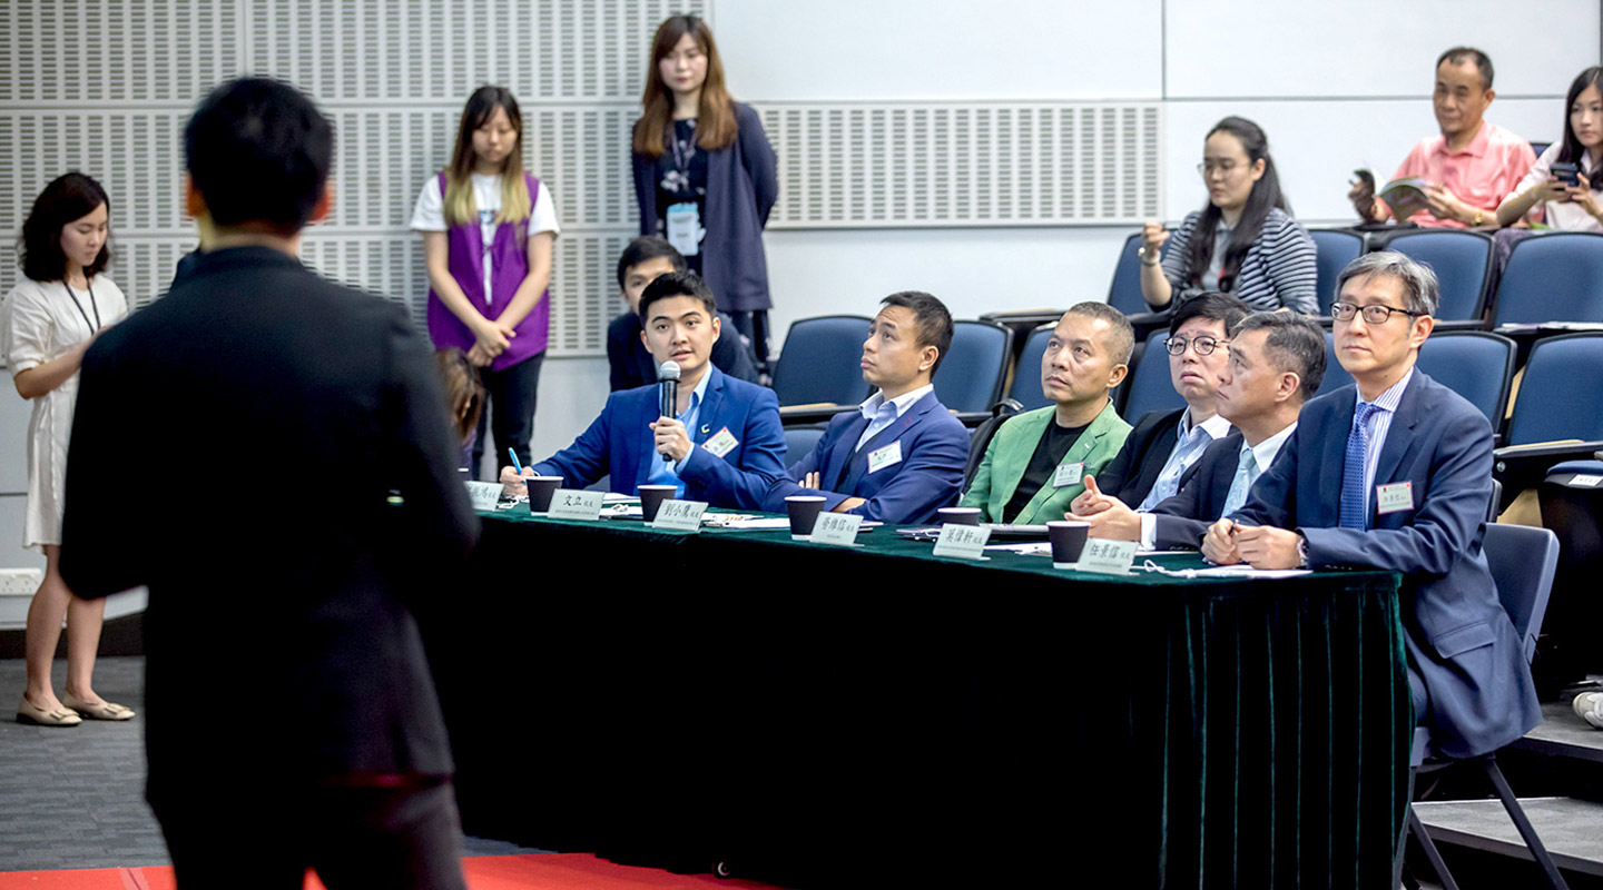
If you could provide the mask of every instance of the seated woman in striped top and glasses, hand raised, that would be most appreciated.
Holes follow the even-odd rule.
[[[1226,117],[1202,142],[1207,203],[1186,214],[1175,243],[1159,261],[1169,232],[1159,222],[1141,231],[1141,296],[1164,309],[1175,296],[1217,290],[1252,309],[1319,311],[1319,267],[1313,237],[1292,219],[1270,139],[1257,123]]]

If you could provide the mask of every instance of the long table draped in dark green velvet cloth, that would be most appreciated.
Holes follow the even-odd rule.
[[[1396,573],[481,517],[425,627],[470,834],[793,887],[1390,882]]]

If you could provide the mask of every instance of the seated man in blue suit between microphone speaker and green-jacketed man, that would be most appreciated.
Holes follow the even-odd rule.
[[[917,523],[963,490],[968,431],[930,383],[952,346],[952,315],[920,291],[880,303],[861,362],[877,392],[829,421],[818,447],[769,487],[763,509],[784,512],[790,495],[824,495],[827,511]]]

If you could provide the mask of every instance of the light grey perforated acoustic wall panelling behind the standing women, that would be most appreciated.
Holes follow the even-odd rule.
[[[628,170],[646,53],[710,0],[3,0],[0,235],[82,170],[112,195],[111,275],[157,299],[196,243],[181,214],[183,125],[240,74],[311,93],[337,128],[335,213],[308,231],[321,272],[409,306],[428,282],[407,229],[446,165],[466,94],[511,88],[524,166],[556,200],[553,355],[598,355],[635,231]],[[64,50],[63,35],[93,35]],[[93,46],[93,50],[87,50]],[[785,102],[753,98],[779,154],[771,229],[1127,224],[1159,216],[1156,104]],[[0,293],[18,277],[0,263]],[[782,282],[776,283],[782,293]]]

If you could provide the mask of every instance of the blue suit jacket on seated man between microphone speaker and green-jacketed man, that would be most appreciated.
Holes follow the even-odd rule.
[[[968,464],[968,431],[941,405],[935,392],[914,402],[896,423],[853,453],[867,426],[867,418],[859,411],[835,415],[813,451],[769,487],[763,509],[784,512],[787,496],[814,493],[800,485],[813,471],[821,471],[824,509],[834,509],[846,498],[864,498],[866,504],[848,511],[864,519],[930,522],[935,511],[957,503]],[[869,453],[891,442],[901,442],[901,463],[869,472]]]

